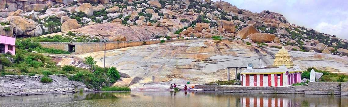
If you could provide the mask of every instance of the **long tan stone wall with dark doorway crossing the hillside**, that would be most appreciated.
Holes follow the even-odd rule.
[[[172,42],[172,41],[181,41],[185,39],[175,39],[175,40],[166,40],[166,42]],[[91,53],[91,52],[98,52],[98,51],[104,51],[104,48],[106,51],[118,49],[118,48],[125,48],[125,47],[132,47],[132,46],[141,46],[141,45],[151,45],[151,44],[158,44],[161,43],[160,40],[153,40],[153,41],[115,41],[115,42],[81,42],[81,43],[48,43],[48,42],[40,42],[42,47],[46,48],[55,48],[55,49],[61,49],[64,51],[69,51],[69,46],[74,46],[76,54],[84,54],[84,53]]]

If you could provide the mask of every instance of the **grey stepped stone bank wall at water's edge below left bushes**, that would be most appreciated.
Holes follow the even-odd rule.
[[[41,83],[42,76],[2,76],[0,77],[0,97],[13,95],[37,95],[94,91],[82,82],[69,81],[67,77],[51,75],[52,83]]]

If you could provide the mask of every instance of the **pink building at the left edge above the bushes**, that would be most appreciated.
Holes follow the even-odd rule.
[[[16,54],[16,38],[0,35],[0,53],[5,54],[10,52]]]

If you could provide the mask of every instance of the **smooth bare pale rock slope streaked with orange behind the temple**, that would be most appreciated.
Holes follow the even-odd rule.
[[[168,89],[169,84],[203,84],[227,80],[227,67],[258,67],[273,64],[278,48],[256,47],[242,41],[186,40],[153,45],[115,49],[106,52],[106,67],[116,67],[129,75],[114,83],[130,86],[133,90]],[[331,72],[348,72],[348,57],[290,51],[294,64],[301,69],[316,67]],[[98,66],[103,66],[104,52],[76,55],[92,56]],[[231,69],[231,78],[235,69]]]

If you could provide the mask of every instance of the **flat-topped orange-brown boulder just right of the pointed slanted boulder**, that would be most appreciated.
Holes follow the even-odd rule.
[[[248,36],[251,38],[251,40],[256,43],[256,42],[269,42],[273,41],[274,38],[276,37],[273,34],[268,34],[268,33],[253,33]]]

